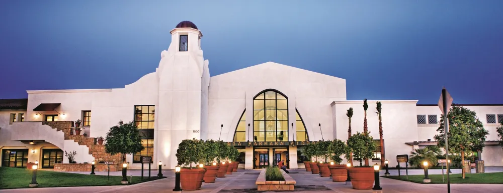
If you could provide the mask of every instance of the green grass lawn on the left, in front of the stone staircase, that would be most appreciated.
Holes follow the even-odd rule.
[[[90,172],[91,173],[91,172]],[[0,189],[29,187],[33,176],[33,170],[26,168],[0,167]],[[128,180],[129,180],[128,176]],[[164,178],[164,177],[162,177]],[[39,187],[63,187],[63,186],[96,186],[96,185],[121,185],[122,176],[87,175],[56,171],[37,171]],[[150,179],[133,176],[132,182],[141,183],[159,179],[153,176]]]

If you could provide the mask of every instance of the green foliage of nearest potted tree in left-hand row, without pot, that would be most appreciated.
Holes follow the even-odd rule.
[[[189,165],[192,163],[202,163],[206,158],[205,144],[201,139],[184,139],[178,144],[177,161],[179,165]]]

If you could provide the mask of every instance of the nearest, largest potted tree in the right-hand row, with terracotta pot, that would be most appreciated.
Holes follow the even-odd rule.
[[[346,156],[353,152],[353,157],[359,160],[370,159],[376,149],[372,136],[369,132],[356,132],[348,139],[348,148]],[[347,157],[349,158],[349,157]],[[371,189],[374,184],[374,169],[372,166],[355,166],[349,169],[349,176],[353,189]]]

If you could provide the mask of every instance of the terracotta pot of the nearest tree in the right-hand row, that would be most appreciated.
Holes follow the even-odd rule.
[[[373,167],[351,167],[349,169],[353,189],[372,189],[374,184]]]

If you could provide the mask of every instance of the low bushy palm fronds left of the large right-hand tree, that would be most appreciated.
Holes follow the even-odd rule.
[[[423,166],[423,161],[428,161],[428,165],[437,165],[437,155],[442,154],[442,151],[437,145],[428,145],[423,149],[414,149],[410,152],[409,163],[417,167]]]

